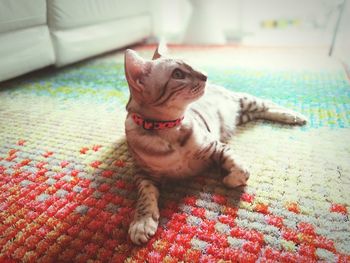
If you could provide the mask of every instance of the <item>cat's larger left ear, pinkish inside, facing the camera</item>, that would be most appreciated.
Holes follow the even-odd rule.
[[[149,63],[140,57],[135,51],[127,49],[125,51],[125,76],[129,87],[133,91],[142,92],[144,83],[142,77],[149,72]]]

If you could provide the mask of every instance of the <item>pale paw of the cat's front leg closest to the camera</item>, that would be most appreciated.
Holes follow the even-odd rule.
[[[129,227],[129,236],[136,245],[146,243],[157,231],[158,220],[152,216],[134,219]]]

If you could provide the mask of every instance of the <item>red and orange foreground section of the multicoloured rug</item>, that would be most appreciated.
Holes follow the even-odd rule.
[[[166,223],[147,245],[134,246],[127,236],[134,205],[128,196],[135,191],[134,185],[116,180],[114,185],[91,187],[90,180],[79,177],[79,170],[72,170],[67,177],[48,169],[54,167],[49,163],[54,152],[42,151],[47,161],[18,158],[25,144],[18,140],[16,148],[0,157],[12,162],[11,167],[0,166],[0,262],[316,262],[317,248],[334,253],[338,262],[350,261],[349,256],[337,253],[331,240],[316,234],[313,225],[300,222],[297,230],[291,229],[268,205],[254,203],[254,196],[248,193],[243,193],[240,201],[263,214],[267,224],[279,229],[281,239],[296,244],[295,252],[273,249],[266,245],[263,232],[237,226],[238,208],[220,194],[207,200],[220,208],[217,218],[210,218],[207,210],[197,205],[196,196],[164,202],[161,218]],[[77,151],[88,155],[101,147]],[[100,164],[96,160],[90,165],[98,168]],[[60,160],[59,165],[65,168],[70,163]],[[118,159],[113,165],[124,168],[126,164]],[[114,173],[104,170],[101,176],[108,178]],[[201,177],[196,182],[206,183]],[[124,194],[112,194],[112,186]],[[186,212],[179,209],[180,204],[187,207]],[[109,211],[111,205],[118,208],[116,212]],[[286,209],[299,213],[295,203]],[[330,212],[346,214],[347,210],[333,204]],[[230,239],[239,240],[240,247],[232,246]]]

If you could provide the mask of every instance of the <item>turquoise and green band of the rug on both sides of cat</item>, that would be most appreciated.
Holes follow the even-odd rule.
[[[272,99],[304,113],[309,117],[309,127],[350,127],[349,81],[341,69],[272,71],[233,66],[218,70],[210,66],[210,61],[202,68],[212,83]],[[86,98],[100,103],[114,102],[122,107],[129,96],[120,56],[10,82],[2,94]]]

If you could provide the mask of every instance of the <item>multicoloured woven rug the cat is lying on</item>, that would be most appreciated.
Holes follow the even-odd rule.
[[[216,171],[165,185],[160,227],[140,247],[127,237],[136,191],[122,54],[2,83],[0,262],[350,262],[344,70],[251,67],[234,48],[171,51],[309,124],[240,127],[230,143],[251,171],[245,192],[223,187]]]

